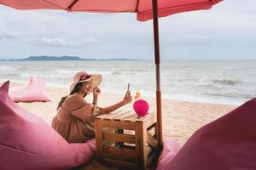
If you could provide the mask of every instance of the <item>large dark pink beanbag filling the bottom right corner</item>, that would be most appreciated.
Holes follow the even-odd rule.
[[[255,170],[256,98],[197,130],[170,170]]]

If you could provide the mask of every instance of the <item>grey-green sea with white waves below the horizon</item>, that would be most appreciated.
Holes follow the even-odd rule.
[[[102,74],[104,92],[155,97],[154,60],[0,61],[0,81],[28,82],[69,88],[77,71]],[[162,99],[241,105],[256,97],[256,60],[162,60]]]

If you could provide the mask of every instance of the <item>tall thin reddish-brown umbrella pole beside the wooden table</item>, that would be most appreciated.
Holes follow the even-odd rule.
[[[160,45],[158,31],[158,13],[157,0],[152,0],[153,4],[153,25],[154,25],[154,62],[156,76],[156,115],[157,115],[157,140],[160,147],[163,145],[162,133],[162,106],[160,89]]]

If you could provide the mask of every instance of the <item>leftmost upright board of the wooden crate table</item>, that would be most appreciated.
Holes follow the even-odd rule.
[[[96,159],[102,161],[102,121],[101,119],[95,120],[96,125]]]

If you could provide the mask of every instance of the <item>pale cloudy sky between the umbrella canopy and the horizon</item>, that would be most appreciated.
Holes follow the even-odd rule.
[[[256,59],[255,9],[255,0],[224,0],[210,10],[160,18],[161,59]],[[152,20],[136,17],[0,5],[0,59],[154,59]]]

